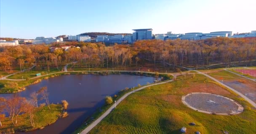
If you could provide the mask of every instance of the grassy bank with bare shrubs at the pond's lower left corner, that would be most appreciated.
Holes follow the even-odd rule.
[[[3,126],[0,127],[0,133],[6,131],[32,131],[53,124],[59,119],[62,106],[61,104],[51,104],[50,107],[51,109],[48,109],[48,106],[36,108],[34,113],[35,127],[31,126],[27,113],[18,116],[18,123],[15,124],[15,126],[12,124],[12,121],[9,120],[9,117],[5,117],[5,119],[1,121]]]

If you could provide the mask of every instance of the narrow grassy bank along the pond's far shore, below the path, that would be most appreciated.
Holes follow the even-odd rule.
[[[43,75],[41,77],[34,77],[27,80],[0,80],[0,93],[17,93],[25,90],[26,86],[36,84],[41,82],[42,80],[49,79],[51,77],[56,77],[60,75],[86,75],[86,74],[94,74],[94,75],[112,75],[112,74],[126,74],[126,75],[141,75],[141,76],[150,76],[155,77],[155,72],[139,72],[139,71],[123,71],[123,70],[104,70],[104,71],[72,71],[72,72],[55,72],[53,74]],[[159,74],[160,77],[164,79],[168,77],[172,77],[168,74]]]

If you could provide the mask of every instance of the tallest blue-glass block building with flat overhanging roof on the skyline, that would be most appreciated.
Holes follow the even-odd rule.
[[[152,39],[152,30],[148,29],[133,29],[133,41]]]

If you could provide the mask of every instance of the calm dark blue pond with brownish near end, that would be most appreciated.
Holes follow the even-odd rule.
[[[32,92],[47,86],[51,103],[67,100],[69,116],[58,119],[56,123],[46,126],[44,129],[24,134],[71,134],[96,108],[104,105],[106,95],[113,96],[125,87],[131,88],[153,81],[154,77],[135,75],[62,75],[29,85],[20,93],[0,94],[0,97],[19,95],[29,98]]]

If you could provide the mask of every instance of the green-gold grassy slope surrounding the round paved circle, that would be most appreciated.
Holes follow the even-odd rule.
[[[178,81],[153,86],[141,90],[126,98],[117,109],[112,111],[91,134],[179,134],[182,126],[187,127],[187,134],[200,131],[202,134],[222,134],[223,130],[231,134],[256,133],[256,110],[251,110],[248,103],[229,93],[229,98],[238,101],[245,111],[235,116],[219,116],[194,111],[181,103],[181,96],[193,83],[212,84],[202,75],[178,77]],[[218,85],[216,85],[218,86]],[[174,101],[165,101],[170,96]],[[195,122],[196,126],[189,126]]]

